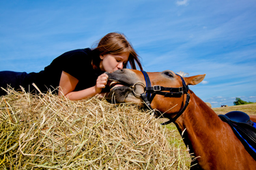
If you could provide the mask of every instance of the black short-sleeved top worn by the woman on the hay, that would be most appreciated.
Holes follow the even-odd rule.
[[[79,80],[75,91],[95,86],[98,76],[104,71],[95,70],[91,65],[93,52],[90,48],[72,50],[61,54],[40,73],[29,73],[26,82],[35,83],[42,92],[59,86],[62,71]]]

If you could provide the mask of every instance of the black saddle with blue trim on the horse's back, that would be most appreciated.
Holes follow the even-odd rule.
[[[240,111],[221,114],[218,117],[231,126],[244,148],[256,160],[256,123],[250,120],[248,114]]]

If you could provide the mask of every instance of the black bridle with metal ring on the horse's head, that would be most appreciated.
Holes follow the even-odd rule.
[[[180,110],[180,112],[178,112],[176,114],[176,116],[174,118],[169,118],[169,120],[167,122],[163,122],[162,125],[166,125],[171,122],[174,122],[177,118],[179,118],[183,114],[183,112],[185,111],[186,107],[188,106],[188,103],[190,100],[190,95],[188,94],[189,88],[186,85],[184,79],[182,78],[182,76],[179,75],[180,78],[182,79],[182,87],[178,87],[178,88],[162,87],[159,85],[151,86],[150,78],[147,75],[147,72],[146,71],[141,71],[141,72],[144,75],[146,86],[141,82],[137,82],[132,86],[132,92],[133,92],[134,96],[141,97],[143,99],[145,105],[149,109],[152,109],[150,104],[152,103],[152,101],[156,95],[162,95],[165,97],[182,97],[182,95],[186,94],[186,103],[185,103],[184,107]],[[178,74],[176,74],[176,75],[178,75]],[[134,92],[134,86],[136,86],[137,84],[144,87],[145,91],[141,95],[138,95],[138,94],[136,94],[136,92]],[[166,92],[166,91],[169,91],[169,92]],[[162,114],[161,114],[161,116],[162,116]]]

